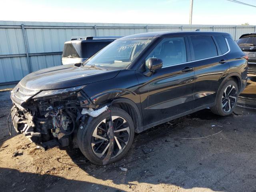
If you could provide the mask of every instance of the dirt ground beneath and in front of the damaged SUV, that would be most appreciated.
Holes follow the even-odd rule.
[[[96,166],[78,149],[43,151],[14,130],[10,137],[11,105],[10,91],[0,92],[0,191],[256,192],[255,109],[205,109],[156,126],[136,134],[122,160]]]

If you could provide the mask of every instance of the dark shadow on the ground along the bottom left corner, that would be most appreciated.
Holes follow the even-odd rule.
[[[5,175],[10,180],[1,181],[1,191],[26,191],[26,192],[58,192],[58,191],[87,191],[88,185],[94,183],[66,179],[48,174],[19,172],[15,169],[0,168],[0,176]],[[24,184],[21,186],[21,184]],[[99,188],[118,191],[116,188],[97,184]],[[75,189],[75,190],[74,190]]]

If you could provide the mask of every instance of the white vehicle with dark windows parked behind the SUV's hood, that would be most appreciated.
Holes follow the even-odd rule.
[[[64,43],[61,62],[63,65],[82,63],[96,52],[120,37],[86,37]]]

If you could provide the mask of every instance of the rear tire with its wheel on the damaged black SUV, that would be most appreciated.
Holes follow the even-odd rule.
[[[229,94],[230,93],[230,94]],[[229,95],[228,95],[229,94]],[[225,97],[226,96],[226,97]],[[234,80],[228,79],[218,91],[215,106],[210,110],[217,115],[227,116],[232,114],[238,99],[238,86]]]

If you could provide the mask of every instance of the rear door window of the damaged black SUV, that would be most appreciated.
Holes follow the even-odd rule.
[[[218,56],[217,47],[211,36],[191,36],[194,60]]]

